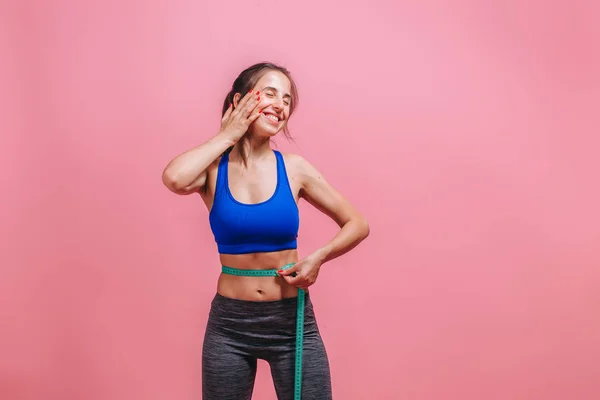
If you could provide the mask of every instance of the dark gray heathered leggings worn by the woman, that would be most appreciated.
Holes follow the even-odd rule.
[[[294,398],[297,298],[246,301],[216,294],[202,349],[202,399],[249,400],[257,359],[265,360],[279,400]],[[330,400],[325,346],[306,293],[302,400]]]

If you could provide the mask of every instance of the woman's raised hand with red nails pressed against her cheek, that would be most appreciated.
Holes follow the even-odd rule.
[[[225,135],[228,139],[236,143],[248,131],[248,127],[256,121],[261,111],[258,108],[260,104],[259,92],[248,92],[239,102],[235,109],[233,104],[221,119],[221,131],[219,134]]]

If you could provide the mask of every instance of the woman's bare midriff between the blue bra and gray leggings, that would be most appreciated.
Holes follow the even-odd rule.
[[[297,250],[271,253],[221,254],[221,264],[237,269],[280,269],[298,261]],[[249,301],[273,301],[298,296],[298,288],[280,276],[219,276],[217,293],[224,297]]]

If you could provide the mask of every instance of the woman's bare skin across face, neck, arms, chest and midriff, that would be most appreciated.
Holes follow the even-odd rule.
[[[267,200],[277,183],[276,158],[270,139],[289,120],[291,84],[279,71],[263,75],[252,93],[236,94],[225,113],[219,134],[172,160],[163,173],[163,182],[175,193],[199,193],[210,211],[217,181],[220,154],[234,145],[229,156],[229,189],[242,203]],[[272,123],[267,115],[276,115]],[[246,133],[247,131],[247,133]],[[243,150],[246,162],[240,155]],[[217,292],[242,300],[271,301],[297,295],[315,284],[321,266],[350,251],[369,234],[366,219],[306,159],[283,154],[288,180],[296,203],[304,199],[334,220],[339,232],[322,247],[299,259],[297,250],[255,254],[222,254],[223,265],[244,269],[276,269],[289,263],[278,277],[242,277],[221,274]],[[296,273],[293,277],[292,274]]]

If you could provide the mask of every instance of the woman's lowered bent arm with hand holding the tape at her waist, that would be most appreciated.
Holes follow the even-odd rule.
[[[295,176],[300,180],[300,197],[333,219],[341,228],[325,246],[304,257],[292,268],[280,271],[288,283],[306,289],[316,281],[322,264],[352,250],[369,235],[369,224],[308,161],[298,155],[290,158]],[[292,277],[294,272],[296,276]]]

